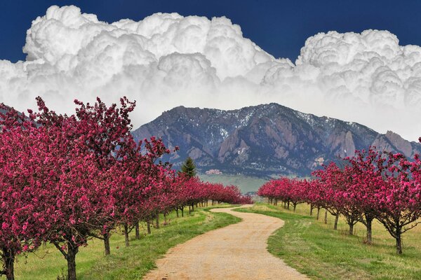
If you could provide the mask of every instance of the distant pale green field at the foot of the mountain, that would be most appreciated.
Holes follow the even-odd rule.
[[[238,186],[241,193],[255,192],[267,182],[267,180],[258,177],[228,174],[199,174],[199,178],[210,183]]]

